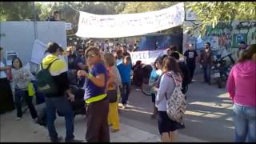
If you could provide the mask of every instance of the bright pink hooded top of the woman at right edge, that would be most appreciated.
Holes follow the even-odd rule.
[[[256,107],[256,62],[246,61],[233,66],[226,89],[234,103]]]

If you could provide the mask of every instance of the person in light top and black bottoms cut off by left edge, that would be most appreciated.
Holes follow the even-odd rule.
[[[7,79],[6,71],[11,70],[6,66],[6,59],[3,58],[3,48],[0,47],[0,114],[14,110],[14,98]]]

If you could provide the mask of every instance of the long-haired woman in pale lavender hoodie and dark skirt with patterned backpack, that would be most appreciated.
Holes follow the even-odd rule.
[[[167,56],[162,62],[162,77],[155,104],[158,108],[158,130],[162,142],[174,142],[176,131],[182,126],[171,120],[166,113],[166,101],[176,85],[182,85],[182,73],[174,58]]]

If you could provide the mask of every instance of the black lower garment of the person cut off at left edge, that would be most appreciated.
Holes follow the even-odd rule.
[[[7,78],[0,78],[0,114],[14,110],[14,98]]]

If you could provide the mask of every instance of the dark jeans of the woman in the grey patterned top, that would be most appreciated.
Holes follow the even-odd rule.
[[[15,89],[15,104],[17,108],[17,117],[22,118],[22,98],[25,98],[26,104],[29,107],[32,118],[38,118],[38,113],[32,102],[33,97],[30,97],[27,90]]]

